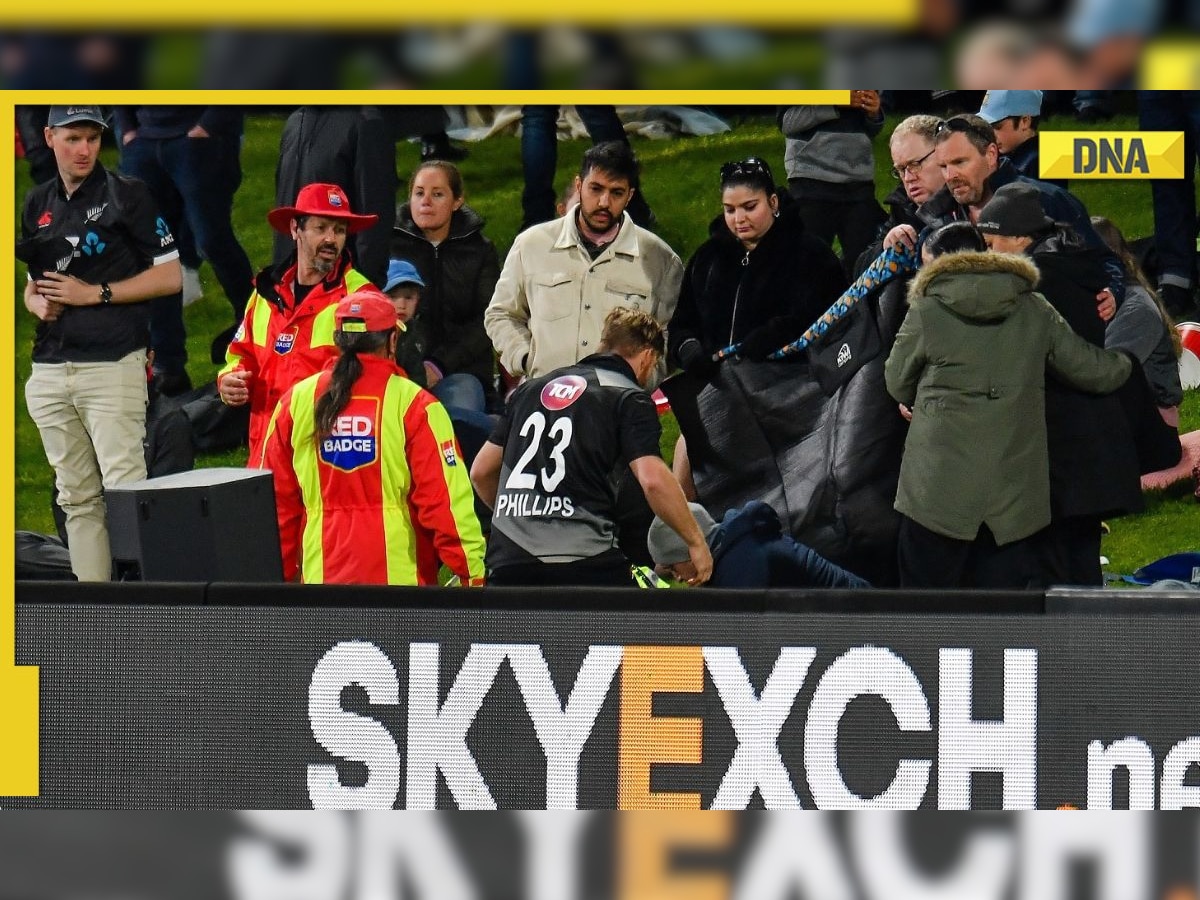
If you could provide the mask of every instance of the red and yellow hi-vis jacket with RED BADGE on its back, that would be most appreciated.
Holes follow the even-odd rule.
[[[332,433],[317,434],[317,398],[332,362],[289,389],[259,461],[275,479],[283,576],[306,583],[437,584],[438,560],[484,583],[484,536],[445,408],[389,359],[362,374]]]

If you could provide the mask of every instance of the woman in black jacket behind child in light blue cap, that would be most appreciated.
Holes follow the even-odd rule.
[[[421,163],[396,210],[391,258],[408,259],[425,280],[420,317],[428,332],[426,380],[450,407],[496,406],[494,353],[484,310],[500,277],[484,220],[463,203],[462,175],[443,160]]]

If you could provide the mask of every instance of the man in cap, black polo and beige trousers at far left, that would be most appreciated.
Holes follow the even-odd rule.
[[[103,488],[146,476],[146,300],[182,284],[175,239],[145,185],[100,163],[98,107],[50,107],[59,174],[25,197],[17,258],[38,318],[29,414],[54,467],[71,569],[108,581]]]

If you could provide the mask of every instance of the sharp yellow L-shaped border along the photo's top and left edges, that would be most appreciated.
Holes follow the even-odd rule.
[[[133,8],[133,7],[131,7]],[[212,14],[212,8],[206,8]],[[245,12],[239,7],[239,12]],[[157,10],[161,14],[162,10]],[[241,17],[230,14],[230,20]],[[341,23],[344,24],[344,23]],[[0,184],[8,186],[8,209],[16,203],[16,162],[7,149],[13,146],[16,107],[28,103],[178,104],[226,103],[239,106],[278,104],[370,104],[394,106],[505,106],[522,103],[613,103],[655,106],[776,106],[798,103],[848,104],[850,91],[5,91],[0,94]],[[14,283],[14,216],[0,216],[0,283]],[[16,301],[13,314],[17,314]],[[16,491],[16,359],[13,331],[0,338],[0,422],[8,427],[0,436],[0,472],[8,472],[7,484]],[[0,500],[0,535],[12,534],[16,497]],[[38,781],[38,668],[16,665],[16,596],[12,540],[0,540],[0,797],[35,797]]]

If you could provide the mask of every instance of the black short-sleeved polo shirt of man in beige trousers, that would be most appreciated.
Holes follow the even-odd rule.
[[[29,277],[74,275],[89,284],[124,281],[179,257],[175,239],[142,181],[98,162],[68,198],[55,176],[25,196],[17,258]],[[35,362],[112,362],[145,349],[150,302],[67,306],[40,322]]]

